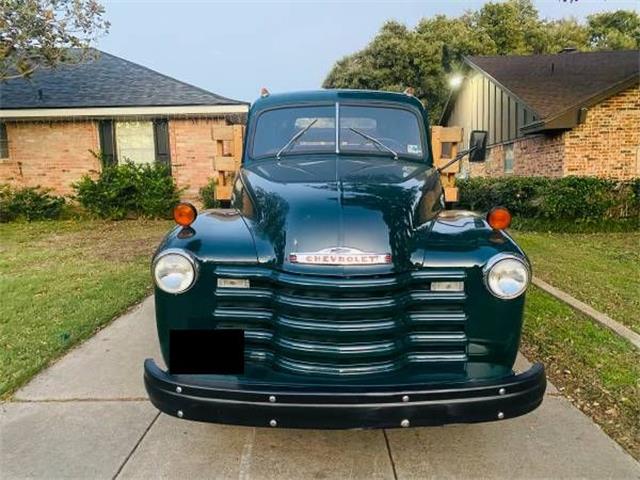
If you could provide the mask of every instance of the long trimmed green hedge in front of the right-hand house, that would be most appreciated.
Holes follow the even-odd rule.
[[[612,223],[624,229],[640,222],[640,179],[616,182],[595,177],[500,177],[458,181],[460,206],[488,211],[507,207],[522,228],[598,230]],[[537,229],[537,228],[536,228]],[[577,230],[576,230],[577,229]],[[616,228],[617,229],[617,228]]]

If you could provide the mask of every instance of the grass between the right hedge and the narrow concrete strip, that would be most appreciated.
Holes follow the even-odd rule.
[[[515,232],[537,277],[640,333],[640,232]]]

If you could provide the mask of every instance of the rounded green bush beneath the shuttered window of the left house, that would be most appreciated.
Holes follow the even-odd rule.
[[[91,214],[121,220],[168,218],[180,191],[164,165],[128,162],[107,166],[97,179],[85,175],[73,185],[76,199]]]

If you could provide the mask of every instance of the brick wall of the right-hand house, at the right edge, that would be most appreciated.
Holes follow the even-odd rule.
[[[640,176],[640,88],[591,107],[585,123],[564,134],[564,175]]]

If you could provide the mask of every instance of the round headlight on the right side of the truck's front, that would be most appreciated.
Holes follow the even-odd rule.
[[[516,298],[529,286],[529,265],[520,257],[498,254],[484,268],[484,281],[489,291],[498,298]]]

